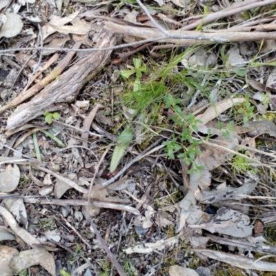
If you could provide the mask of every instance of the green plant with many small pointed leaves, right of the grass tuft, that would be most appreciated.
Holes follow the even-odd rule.
[[[192,113],[186,114],[182,110],[179,105],[182,102],[181,99],[175,99],[169,94],[164,97],[164,101],[166,103],[165,108],[172,108],[174,111],[174,115],[171,115],[170,118],[174,121],[175,127],[181,130],[179,136],[175,137],[175,135],[172,135],[170,141],[164,142],[166,146],[164,150],[171,159],[175,159],[175,152],[181,151],[178,153],[177,158],[183,159],[188,166],[192,165],[188,173],[198,173],[203,167],[195,162],[195,157],[201,153],[198,146],[202,141],[195,139],[193,133],[198,131],[197,124],[201,121],[196,119]]]

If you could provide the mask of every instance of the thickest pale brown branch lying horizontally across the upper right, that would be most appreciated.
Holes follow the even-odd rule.
[[[149,38],[156,39],[159,37],[159,42],[175,43],[181,46],[189,46],[195,44],[195,40],[190,39],[171,39],[166,37],[161,37],[162,33],[155,28],[135,28],[130,26],[123,26],[115,23],[105,22],[106,29],[112,32],[119,32],[121,34],[130,35],[132,37],[140,37],[141,39]],[[181,33],[199,33],[199,31],[181,31],[181,30],[170,30],[172,34]],[[211,37],[214,33],[205,33],[206,37]],[[227,38],[230,42],[239,41],[256,41],[260,39],[276,39],[276,32],[223,32],[222,30],[215,33],[217,37]],[[197,43],[210,43],[209,40],[196,41]]]

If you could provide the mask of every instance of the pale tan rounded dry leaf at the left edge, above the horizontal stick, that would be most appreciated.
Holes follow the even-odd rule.
[[[15,190],[19,184],[20,170],[17,165],[8,165],[6,170],[0,173],[0,192],[9,193]]]

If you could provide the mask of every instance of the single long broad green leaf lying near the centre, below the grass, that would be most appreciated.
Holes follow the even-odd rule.
[[[123,157],[126,149],[130,145],[133,138],[133,132],[130,127],[126,127],[126,129],[121,132],[117,139],[117,146],[115,146],[111,163],[110,163],[110,172],[114,172],[119,165],[119,161],[121,157]]]

